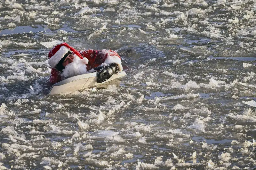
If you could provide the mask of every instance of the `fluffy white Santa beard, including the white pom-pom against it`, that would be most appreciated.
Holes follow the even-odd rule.
[[[88,64],[87,58],[79,58],[77,55],[74,55],[75,58],[73,59],[72,63],[66,65],[65,69],[63,69],[62,76],[63,78],[70,78],[73,76],[86,74],[87,73],[87,66]]]

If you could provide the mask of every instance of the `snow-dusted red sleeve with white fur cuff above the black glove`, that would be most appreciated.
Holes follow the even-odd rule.
[[[84,50],[84,51],[78,51],[78,52],[83,57],[86,57],[89,60],[89,63],[87,64],[88,70],[98,67],[102,63],[106,63],[106,64],[116,63],[119,67],[119,71],[123,71],[121,57],[115,51],[90,49],[90,50]]]

